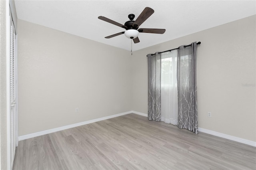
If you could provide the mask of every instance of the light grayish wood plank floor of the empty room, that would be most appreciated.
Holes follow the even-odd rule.
[[[136,114],[27,140],[13,170],[255,170],[256,147]]]

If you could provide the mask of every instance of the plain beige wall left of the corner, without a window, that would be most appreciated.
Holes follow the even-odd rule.
[[[132,110],[129,51],[18,26],[19,136]]]

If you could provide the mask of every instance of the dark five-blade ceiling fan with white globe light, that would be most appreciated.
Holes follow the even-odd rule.
[[[138,18],[134,21],[134,14],[129,14],[128,18],[130,19],[130,21],[127,21],[126,23],[124,23],[124,25],[115,22],[113,20],[110,20],[104,16],[99,16],[98,18],[100,20],[109,22],[110,24],[114,24],[116,26],[122,27],[124,29],[126,29],[126,31],[124,32],[119,32],[116,34],[113,34],[111,36],[107,36],[105,38],[112,38],[115,36],[119,36],[121,34],[124,34],[127,38],[133,39],[134,43],[138,43],[140,42],[139,38],[138,38],[138,34],[139,32],[142,33],[154,33],[154,34],[164,34],[165,29],[156,29],[156,28],[139,28],[139,26],[148,19],[148,17],[150,17],[152,14],[154,13],[154,10],[152,8],[146,7],[142,13],[138,16]]]

